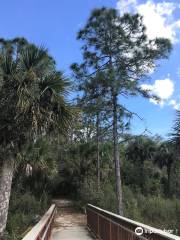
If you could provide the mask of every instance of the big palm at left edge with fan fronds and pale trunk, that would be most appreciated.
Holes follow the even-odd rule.
[[[5,230],[17,153],[40,136],[63,133],[72,110],[69,82],[44,47],[0,39],[0,235]]]

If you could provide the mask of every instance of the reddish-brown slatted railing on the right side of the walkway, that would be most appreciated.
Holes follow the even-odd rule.
[[[180,240],[180,237],[88,204],[87,226],[101,240]]]

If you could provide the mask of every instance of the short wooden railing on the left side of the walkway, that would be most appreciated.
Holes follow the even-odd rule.
[[[53,204],[22,240],[49,240],[55,213],[56,206]]]

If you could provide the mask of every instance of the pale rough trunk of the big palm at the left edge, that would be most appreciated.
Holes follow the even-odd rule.
[[[5,160],[0,169],[0,239],[3,239],[6,228],[13,170],[12,159]]]

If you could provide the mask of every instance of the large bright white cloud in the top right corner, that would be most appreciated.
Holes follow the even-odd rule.
[[[169,38],[173,43],[177,42],[180,34],[180,19],[174,19],[174,12],[180,8],[180,4],[173,2],[155,3],[148,0],[146,3],[138,4],[138,0],[119,0],[117,9],[120,14],[125,12],[138,12],[144,18],[146,33],[150,39],[156,37]]]

